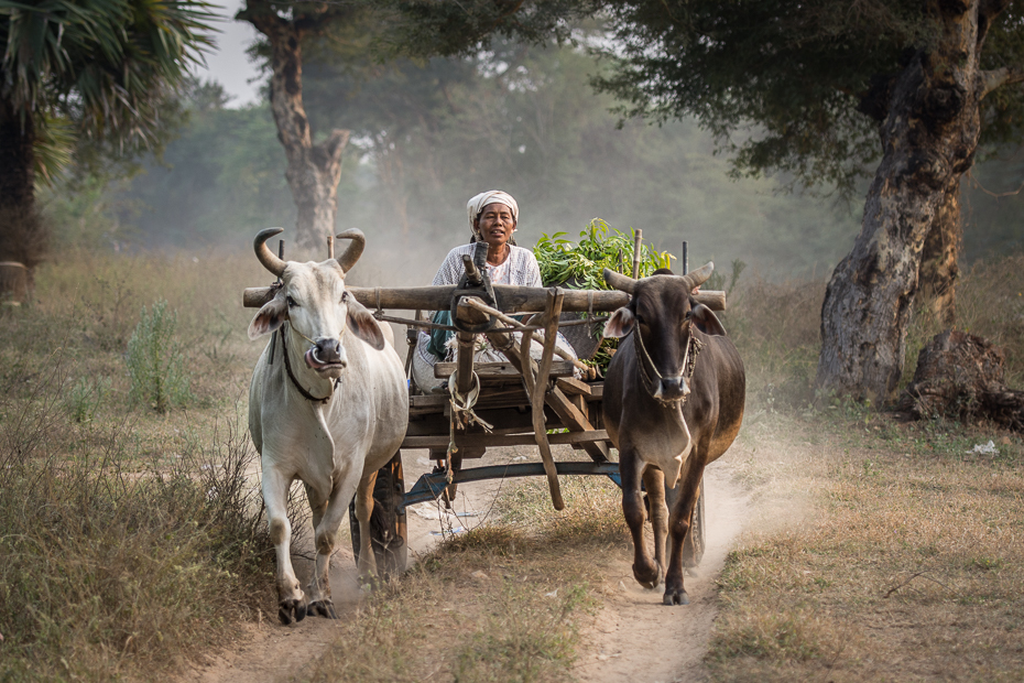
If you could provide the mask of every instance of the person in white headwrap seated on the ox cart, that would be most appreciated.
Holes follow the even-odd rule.
[[[456,247],[445,257],[434,285],[458,284],[462,277],[462,254],[472,256],[476,242],[487,245],[487,274],[492,284],[514,284],[520,286],[544,286],[541,282],[541,269],[533,251],[515,245],[512,235],[519,223],[519,205],[512,195],[500,189],[481,192],[466,205],[469,227],[472,235],[468,245]],[[434,365],[439,360],[450,359],[455,345],[447,343],[447,335],[421,332],[416,351],[413,355],[412,379],[423,393],[439,390],[446,380],[434,377]],[[559,334],[556,344],[573,351],[573,347]],[[532,354],[538,355],[540,347],[534,345]],[[575,357],[575,354],[574,354]],[[503,360],[494,349],[477,351],[477,360]]]

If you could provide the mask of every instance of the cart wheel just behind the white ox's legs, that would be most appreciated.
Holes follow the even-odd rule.
[[[402,452],[377,471],[373,486],[373,513],[370,516],[370,545],[377,560],[378,575],[388,581],[405,572],[408,559],[408,529],[405,512],[396,512],[401,497],[405,495],[402,476]],[[359,562],[359,520],[356,519],[356,501],[348,506],[349,528],[352,531],[352,552]]]

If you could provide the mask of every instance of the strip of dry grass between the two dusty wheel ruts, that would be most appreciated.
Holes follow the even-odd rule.
[[[595,557],[628,544],[618,491],[566,480],[566,510],[518,487],[502,521],[449,538],[375,595],[318,662],[314,681],[571,680],[597,604]]]

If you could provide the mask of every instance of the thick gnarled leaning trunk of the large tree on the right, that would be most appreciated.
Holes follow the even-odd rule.
[[[903,373],[906,328],[929,229],[971,166],[987,89],[979,62],[995,2],[929,3],[940,26],[889,90],[882,163],[861,232],[832,273],[821,306],[817,384],[826,393],[887,401]],[[983,14],[984,7],[989,14]]]

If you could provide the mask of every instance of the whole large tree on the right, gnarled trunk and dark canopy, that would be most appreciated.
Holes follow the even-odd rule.
[[[849,188],[881,161],[821,311],[817,384],[884,401],[922,278],[949,317],[961,176],[1020,139],[1024,8],[1014,0],[611,1],[621,46],[598,85],[647,116],[695,115],[740,172]],[[984,124],[982,124],[984,122]],[[733,135],[754,124],[753,135]],[[881,142],[881,147],[878,142]],[[927,258],[922,265],[923,258]]]

